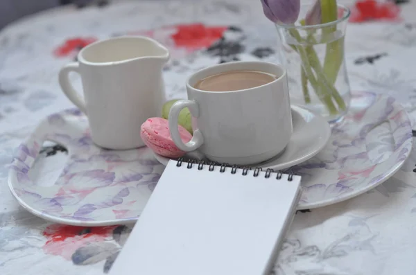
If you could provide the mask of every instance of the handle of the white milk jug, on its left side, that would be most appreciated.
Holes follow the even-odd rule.
[[[87,114],[87,108],[85,107],[85,102],[83,98],[81,98],[80,94],[73,89],[73,85],[69,81],[69,73],[71,71],[80,73],[80,65],[78,62],[69,63],[62,67],[62,69],[59,72],[59,85],[64,91],[65,96],[71,100],[71,102],[76,105],[80,109],[81,112],[84,114]]]

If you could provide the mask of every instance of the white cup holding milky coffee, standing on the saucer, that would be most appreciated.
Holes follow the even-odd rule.
[[[261,71],[276,80],[239,91],[202,91],[199,80],[227,71]],[[178,100],[169,113],[175,145],[185,152],[197,150],[207,159],[235,165],[255,164],[283,152],[293,132],[286,70],[268,62],[230,62],[194,73],[187,80],[188,100]],[[177,117],[188,107],[193,137],[183,143]]]

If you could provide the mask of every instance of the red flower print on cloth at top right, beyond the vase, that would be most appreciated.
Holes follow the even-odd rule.
[[[399,20],[400,8],[392,1],[359,0],[351,8],[349,21],[359,23],[368,20]]]

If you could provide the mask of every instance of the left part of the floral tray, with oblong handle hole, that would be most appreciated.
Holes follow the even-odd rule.
[[[32,182],[29,170],[44,141],[60,143],[69,160],[53,186]],[[164,169],[148,148],[105,150],[89,136],[77,109],[52,114],[19,146],[10,168],[10,188],[32,213],[74,225],[136,220]]]

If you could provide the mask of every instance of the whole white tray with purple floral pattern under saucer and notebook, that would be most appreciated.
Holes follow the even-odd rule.
[[[29,170],[45,140],[60,143],[69,161],[53,186],[31,181]],[[410,121],[392,98],[353,94],[352,109],[333,127],[327,146],[291,168],[302,175],[299,209],[333,204],[381,184],[412,148]],[[148,148],[105,150],[89,136],[87,118],[69,109],[46,118],[12,162],[10,189],[28,211],[64,224],[105,225],[135,220],[164,170]]]

